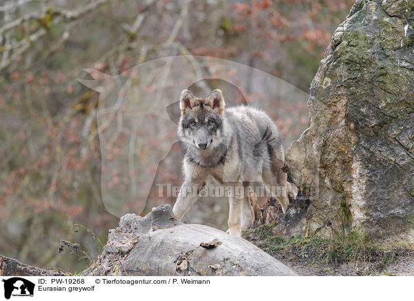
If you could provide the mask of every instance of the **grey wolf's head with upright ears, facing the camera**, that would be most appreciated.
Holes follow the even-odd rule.
[[[225,105],[221,90],[213,90],[206,98],[195,97],[184,90],[179,101],[179,139],[200,150],[214,147],[220,140]]]

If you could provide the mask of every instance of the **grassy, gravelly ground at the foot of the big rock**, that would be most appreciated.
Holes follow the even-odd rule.
[[[274,235],[264,225],[244,237],[298,275],[414,275],[414,249],[377,249],[358,233],[335,240],[320,237],[290,238]]]

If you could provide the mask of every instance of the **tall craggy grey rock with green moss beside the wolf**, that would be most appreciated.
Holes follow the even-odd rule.
[[[357,0],[311,84],[286,151],[305,233],[414,242],[414,0]]]

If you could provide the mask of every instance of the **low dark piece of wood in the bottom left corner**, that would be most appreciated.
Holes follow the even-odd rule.
[[[0,255],[0,276],[64,276],[59,271],[45,270]]]

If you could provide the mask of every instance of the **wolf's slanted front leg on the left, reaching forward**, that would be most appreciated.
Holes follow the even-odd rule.
[[[177,201],[175,202],[172,212],[179,220],[184,217],[188,209],[197,201],[199,193],[206,184],[195,184],[191,181],[185,181],[179,190]]]

